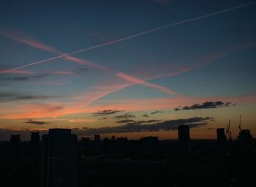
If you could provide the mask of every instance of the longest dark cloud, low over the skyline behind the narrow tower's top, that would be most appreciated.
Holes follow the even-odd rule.
[[[173,119],[164,122],[156,122],[154,124],[142,124],[146,121],[127,120],[127,124],[118,127],[102,127],[102,128],[87,128],[83,130],[83,135],[106,134],[106,133],[125,133],[125,132],[152,132],[152,131],[170,131],[177,130],[178,125],[187,124],[190,128],[202,127],[213,118],[211,117],[193,117],[189,119]],[[151,120],[149,120],[151,121]],[[148,122],[149,123],[149,122]]]

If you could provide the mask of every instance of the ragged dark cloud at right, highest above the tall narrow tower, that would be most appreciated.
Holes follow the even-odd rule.
[[[195,104],[192,106],[183,106],[181,108],[175,108],[175,111],[180,111],[180,110],[195,110],[195,109],[208,109],[208,108],[221,108],[221,107],[229,107],[233,106],[233,103],[230,102],[222,102],[222,101],[206,101],[205,103],[202,104]]]

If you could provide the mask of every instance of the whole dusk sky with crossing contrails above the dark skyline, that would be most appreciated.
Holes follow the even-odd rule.
[[[256,1],[0,1],[0,140],[256,137]]]

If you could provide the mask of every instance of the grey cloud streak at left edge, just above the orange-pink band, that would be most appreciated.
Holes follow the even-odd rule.
[[[0,103],[10,102],[15,100],[46,100],[52,98],[63,98],[61,95],[23,95],[18,93],[0,93]]]

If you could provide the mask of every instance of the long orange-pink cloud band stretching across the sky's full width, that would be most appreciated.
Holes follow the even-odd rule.
[[[84,95],[86,96],[86,95]],[[90,95],[87,95],[90,96]],[[132,100],[111,100],[111,103],[105,101],[104,103],[94,106],[89,106],[93,96],[91,95],[91,100],[87,100],[86,106],[79,105],[83,100],[83,95],[81,98],[76,98],[75,102],[71,103],[51,103],[51,104],[39,104],[31,103],[27,105],[26,108],[23,106],[15,107],[13,110],[5,111],[1,113],[2,119],[23,119],[23,118],[42,118],[42,117],[59,117],[71,114],[86,114],[93,113],[96,111],[108,110],[114,108],[117,110],[124,111],[151,111],[159,109],[173,109],[178,106],[189,106],[195,103],[203,103],[205,101],[217,101],[222,100],[223,102],[232,102],[236,105],[241,104],[252,104],[256,103],[256,95],[241,95],[241,96],[216,96],[208,98],[196,98],[196,97],[186,97],[181,96],[178,98],[151,98],[151,99],[132,99]],[[97,98],[97,97],[95,97]],[[95,99],[94,98],[94,99]]]

